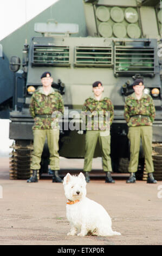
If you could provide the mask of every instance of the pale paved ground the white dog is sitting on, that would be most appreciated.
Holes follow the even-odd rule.
[[[126,184],[118,178],[115,184],[105,184],[104,179],[92,179],[87,197],[103,205],[112,218],[113,230],[121,236],[67,236],[70,227],[63,185],[52,183],[51,178],[34,184],[10,180],[9,159],[2,158],[0,163],[0,245],[162,244],[162,181]],[[67,168],[73,161],[68,164],[61,160],[61,166]]]

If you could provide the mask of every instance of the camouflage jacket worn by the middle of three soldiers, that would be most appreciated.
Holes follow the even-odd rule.
[[[114,119],[114,106],[108,97],[102,97],[100,101],[94,96],[86,99],[82,108],[82,121],[86,130],[109,130]]]

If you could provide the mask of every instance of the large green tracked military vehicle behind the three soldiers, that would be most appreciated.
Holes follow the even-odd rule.
[[[159,153],[154,153],[154,176],[160,180],[162,92],[158,45],[162,20],[159,1],[84,0],[83,5],[87,37],[70,36],[78,31],[75,24],[59,24],[51,20],[36,23],[35,31],[42,36],[33,37],[29,45],[24,45],[22,61],[16,56],[11,58],[10,69],[15,72],[15,108],[10,112],[9,137],[15,143],[10,178],[28,179],[30,176],[34,120],[29,113],[29,103],[34,90],[41,86],[41,74],[50,71],[55,82],[53,87],[62,94],[66,107],[59,153],[67,158],[84,157],[85,132],[78,126],[81,109],[85,99],[92,95],[92,83],[103,83],[105,95],[114,105],[111,127],[114,172],[127,172],[129,142],[124,120],[125,97],[133,92],[134,79],[144,77],[145,93],[151,94],[156,108],[153,144]],[[94,157],[98,156],[100,148],[97,146]],[[48,173],[48,157],[45,143],[40,176]],[[138,173],[140,179],[146,179],[142,147]]]

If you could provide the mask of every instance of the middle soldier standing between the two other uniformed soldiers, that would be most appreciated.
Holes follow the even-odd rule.
[[[103,171],[106,173],[105,182],[114,183],[112,179],[112,165],[111,165],[111,136],[109,133],[110,125],[114,118],[114,107],[108,97],[103,96],[103,86],[100,81],[93,83],[92,97],[89,97],[82,109],[83,117],[86,118],[86,146],[85,146],[85,162],[83,171],[85,172],[86,181],[89,182],[89,172],[92,169],[92,160],[96,143],[99,139]],[[109,113],[109,118],[106,114]],[[90,121],[88,121],[88,118]]]

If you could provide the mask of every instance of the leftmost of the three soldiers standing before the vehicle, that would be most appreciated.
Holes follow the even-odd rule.
[[[59,92],[51,87],[53,78],[50,72],[44,72],[41,76],[42,87],[38,88],[31,97],[30,114],[34,118],[34,151],[32,155],[31,169],[33,176],[27,182],[37,182],[37,172],[40,169],[41,155],[47,136],[50,153],[50,168],[53,170],[53,182],[62,182],[58,171],[60,169],[59,159],[59,129],[53,129],[53,113],[63,113],[63,100]],[[57,117],[57,116],[56,116]]]

